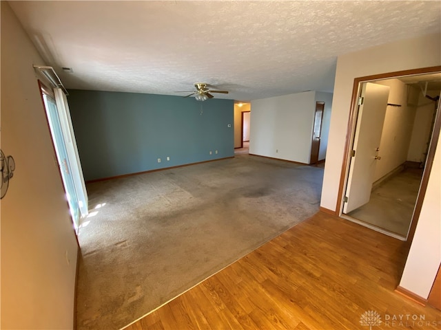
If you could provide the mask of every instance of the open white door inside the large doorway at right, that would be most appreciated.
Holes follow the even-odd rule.
[[[362,104],[358,108],[356,133],[352,150],[349,176],[345,197],[347,201],[343,212],[348,213],[369,202],[373,184],[373,174],[377,162],[381,162],[381,133],[386,115],[389,87],[374,83],[362,85]]]

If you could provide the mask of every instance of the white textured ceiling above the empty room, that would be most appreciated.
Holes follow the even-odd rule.
[[[183,95],[201,82],[235,100],[332,91],[339,54],[441,30],[440,1],[10,5],[67,88]]]

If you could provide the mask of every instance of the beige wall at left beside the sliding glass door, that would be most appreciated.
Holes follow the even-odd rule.
[[[72,329],[78,246],[32,64],[44,63],[1,1],[1,149],[16,164],[1,199],[1,329]]]

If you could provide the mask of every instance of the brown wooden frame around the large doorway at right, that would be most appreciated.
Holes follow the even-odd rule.
[[[355,78],[353,80],[353,89],[351,96],[351,108],[349,111],[349,119],[347,124],[345,151],[343,153],[342,170],[340,173],[340,185],[338,187],[337,203],[336,203],[336,215],[342,216],[343,208],[343,195],[345,195],[345,187],[347,184],[347,174],[349,171],[349,163],[351,161],[351,144],[353,140],[353,134],[356,129],[356,120],[358,112],[358,97],[360,95],[360,86],[362,83],[369,83],[373,80],[391,79],[399,78],[402,76],[418,76],[420,74],[435,74],[441,72],[441,65],[435,67],[424,67],[420,69],[409,69],[398,72],[389,72],[384,74],[376,74],[372,76],[364,76]],[[441,101],[440,101],[441,102]],[[438,109],[440,107],[438,106]],[[435,123],[433,125],[433,132],[431,136],[431,142],[429,146],[429,151],[427,153],[426,164],[424,166],[424,173],[422,175],[420,191],[418,192],[418,197],[415,204],[415,209],[413,211],[413,216],[411,219],[411,226],[409,233],[407,234],[407,243],[410,245],[413,240],[413,235],[415,234],[416,225],[418,223],[418,218],[420,217],[420,212],[422,208],[422,203],[424,201],[424,195],[426,194],[427,184],[429,182],[429,175],[432,169],[433,158],[435,157],[435,150],[438,145],[438,138],[440,137],[441,130],[441,111],[438,111],[435,117]]]

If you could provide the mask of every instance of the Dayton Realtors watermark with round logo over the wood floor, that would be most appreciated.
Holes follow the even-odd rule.
[[[382,318],[377,311],[365,311],[360,316],[360,325],[369,327],[369,330],[380,325],[391,328],[437,327],[441,321],[426,320],[424,314],[384,314]]]

